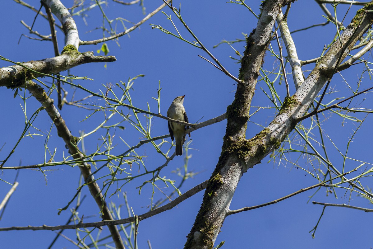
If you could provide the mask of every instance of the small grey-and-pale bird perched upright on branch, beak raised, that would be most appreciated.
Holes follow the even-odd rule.
[[[185,95],[179,96],[172,101],[172,104],[167,111],[167,117],[189,123],[188,116],[186,116],[185,108],[183,106],[184,97]],[[171,140],[173,141],[173,137],[175,137],[175,156],[181,156],[183,154],[182,145],[185,141],[185,131],[188,128],[189,126],[168,121],[168,130],[170,132]]]

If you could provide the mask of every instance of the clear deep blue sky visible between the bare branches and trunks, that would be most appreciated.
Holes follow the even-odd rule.
[[[71,1],[62,2],[67,4],[67,7],[71,7]],[[37,8],[40,7],[38,1],[28,1],[28,3]],[[85,4],[88,4],[88,2]],[[149,13],[162,4],[162,1],[144,1],[144,4],[147,13]],[[260,1],[247,1],[247,4],[250,4],[255,13],[259,13]],[[178,3],[175,1],[174,6],[178,6]],[[328,6],[329,10],[332,11],[330,5]],[[342,19],[348,6],[339,7],[337,15],[338,18]],[[0,16],[3,25],[1,25],[0,30],[4,34],[0,40],[0,47],[2,48],[0,50],[1,56],[16,62],[39,60],[54,56],[53,46],[47,41],[29,40],[22,37],[19,44],[17,44],[21,34],[28,35],[28,31],[20,21],[23,20],[26,24],[31,25],[35,17],[34,12],[13,1],[3,1],[1,9],[2,13]],[[109,4],[103,6],[103,9],[109,16],[109,19],[121,17],[136,23],[143,18],[141,9],[137,5],[126,7],[109,1]],[[346,25],[352,19],[356,10],[356,7],[350,10],[344,22]],[[167,15],[171,13],[166,8],[163,11]],[[95,29],[102,25],[102,17],[98,17],[98,9],[96,8],[91,12],[87,12],[87,15],[84,19],[74,16],[79,37],[81,40],[101,38],[102,32]],[[325,18],[322,15],[323,12],[316,2],[297,1],[292,4],[289,13],[289,28],[290,30],[295,30],[325,22]],[[231,74],[237,76],[239,64],[229,58],[229,56],[237,57],[234,50],[226,44],[220,45],[215,49],[213,46],[223,39],[242,39],[244,37],[242,33],[249,34],[256,27],[256,18],[245,7],[238,4],[226,3],[226,1],[183,1],[182,16],[210,52],[219,59]],[[177,25],[183,37],[193,41],[193,38],[183,29],[175,16],[172,16],[172,20]],[[157,112],[157,103],[152,97],[157,97],[160,81],[162,87],[160,111],[163,115],[166,115],[172,100],[176,96],[184,94],[186,94],[184,106],[190,122],[206,121],[223,114],[226,111],[226,107],[234,98],[235,82],[198,57],[198,55],[207,57],[202,50],[198,50],[157,29],[151,29],[149,24],[157,24],[173,30],[166,16],[162,13],[157,13],[157,15],[145,22],[139,29],[131,32],[129,36],[120,37],[117,41],[120,46],[117,46],[114,41],[107,43],[110,50],[109,55],[116,56],[116,62],[107,63],[106,68],[103,63],[81,65],[71,69],[70,74],[87,76],[94,79],[94,81],[78,82],[94,92],[106,91],[103,85],[107,83],[115,84],[119,83],[119,81],[127,81],[128,78],[135,77],[136,75],[144,74],[145,77],[135,80],[134,90],[131,91],[134,106],[147,109],[147,103],[149,103],[150,110]],[[116,27],[119,32],[123,30],[119,23]],[[126,27],[131,27],[131,24],[126,23]],[[40,16],[35,22],[34,29],[44,35],[50,32],[48,23]],[[333,40],[334,34],[335,26],[332,24],[324,27],[316,27],[311,29],[311,31],[294,33],[293,38],[297,45],[300,59],[306,60],[320,56],[324,45],[329,44]],[[62,51],[64,41],[62,32],[59,31],[57,37],[59,40],[59,49]],[[278,51],[275,44],[272,43],[272,46],[275,51]],[[237,43],[232,46],[242,54],[245,44]],[[100,44],[81,46],[79,47],[79,51],[94,51],[97,55],[96,50],[100,49],[100,47]],[[370,55],[366,55],[364,59],[371,60],[372,58],[370,58]],[[264,68],[272,70],[274,67],[277,67],[277,63],[273,62],[272,55],[267,52]],[[1,67],[9,65],[11,64],[0,61]],[[312,66],[313,64],[308,65],[305,69],[312,69]],[[342,76],[336,75],[333,77],[330,86],[338,90],[338,93],[326,96],[325,103],[335,97],[350,96],[351,91],[344,80],[350,85],[354,85],[353,88],[356,88],[361,71],[361,67],[355,67],[348,71],[348,73],[342,72]],[[63,74],[67,74],[67,72],[63,72]],[[307,76],[307,72],[305,72],[305,75]],[[288,78],[290,78],[290,75]],[[45,81],[50,82],[48,79],[45,79]],[[292,82],[291,78],[290,82]],[[361,85],[361,89],[371,86],[368,75],[364,75]],[[68,85],[64,87],[69,91],[68,98],[71,98],[73,89]],[[286,94],[284,84],[277,85],[276,87],[278,87],[280,98],[283,100]],[[257,110],[255,106],[271,105],[271,102],[260,88],[268,91],[263,81],[258,82],[251,113]],[[0,91],[0,102],[3,106],[0,112],[2,120],[0,122],[0,130],[2,131],[0,138],[0,160],[3,160],[9,154],[10,150],[12,150],[24,129],[25,115],[22,108],[25,108],[25,103],[19,96],[13,98],[14,92],[12,90],[1,88]],[[290,93],[294,92],[294,86],[291,84]],[[29,94],[26,93],[26,95]],[[75,98],[79,99],[86,95],[83,92],[77,91]],[[55,100],[57,99],[55,93],[52,97]],[[369,97],[369,94],[361,96],[359,99],[352,101],[351,106],[369,108],[369,106],[372,106],[372,100]],[[85,103],[88,105],[104,105],[102,100],[94,98],[88,99]],[[26,113],[28,116],[31,116],[39,107],[40,104],[32,97],[26,100]],[[124,108],[123,111],[128,112]],[[60,113],[74,136],[78,136],[81,131],[85,133],[91,131],[105,117],[105,113],[98,112],[90,118],[83,120],[92,111],[66,105]],[[248,123],[247,138],[251,138],[263,126],[265,127],[269,124],[275,114],[274,109],[262,109],[253,115],[250,119],[251,122]],[[338,150],[341,153],[345,153],[346,143],[351,138],[351,134],[359,123],[348,121],[335,114],[331,115],[329,112],[324,113],[324,115],[326,119],[323,122],[323,129],[325,130],[325,134],[330,138],[330,140],[326,141],[329,158],[336,166],[341,168],[343,158]],[[357,114],[356,116],[360,119],[365,117],[364,114]],[[142,120],[144,121],[144,119]],[[371,116],[367,116],[366,121],[360,130],[358,130],[348,150],[348,155],[351,158],[372,163],[372,145],[369,142],[372,137],[370,129],[372,127],[371,122]],[[152,124],[152,136],[162,136],[168,133],[167,123],[164,119],[154,118]],[[43,162],[44,144],[46,142],[44,133],[50,129],[51,121],[46,113],[41,112],[33,125],[35,129],[30,128],[30,133],[37,133],[44,136],[34,135],[23,138],[4,166],[31,165]],[[130,125],[122,125],[125,125],[125,129],[117,129],[113,137],[113,143],[116,144],[116,147],[112,153],[117,155],[127,149],[120,138],[123,138],[128,144],[133,146],[138,143],[141,137],[141,134],[137,133]],[[189,146],[191,150],[188,152],[192,157],[189,159],[188,170],[199,172],[199,174],[186,181],[181,189],[183,193],[210,177],[220,155],[222,138],[225,134],[225,125],[226,122],[222,121],[194,131],[191,134],[192,141]],[[312,124],[306,121],[304,125],[309,127]],[[104,131],[87,137],[84,140],[87,153],[94,152],[97,144],[102,143],[99,140],[102,134],[104,134]],[[56,130],[52,130],[51,135],[48,147],[52,151],[57,147],[56,156],[59,159],[56,160],[60,161],[63,155],[68,155],[68,152],[65,149],[62,139],[57,136]],[[317,134],[312,135],[315,139],[318,139]],[[170,141],[170,138],[167,138],[167,140]],[[333,146],[331,141],[337,147]],[[300,140],[294,140],[293,142],[295,144],[302,144]],[[164,148],[167,146],[169,145],[166,145]],[[318,149],[321,150],[320,147]],[[164,159],[157,155],[150,145],[142,146],[137,152],[140,155],[147,156],[144,161],[148,169],[157,168],[164,163]],[[231,209],[266,203],[318,183],[317,179],[311,177],[311,175],[298,167],[312,170],[312,165],[310,162],[307,162],[307,159],[295,153],[289,153],[286,155],[286,158],[289,162],[283,159],[279,162],[279,159],[277,159],[274,163],[273,161],[269,162],[270,158],[267,157],[262,160],[261,164],[249,169],[241,178],[231,203]],[[292,163],[295,163],[295,165]],[[317,165],[316,162],[313,163]],[[351,170],[360,164],[361,162],[349,160],[346,167],[348,170]],[[176,157],[162,171],[161,175],[176,180],[176,185],[178,185],[181,178],[173,174],[172,171],[183,167],[183,165],[184,158]],[[370,168],[370,166],[367,167]],[[65,224],[70,216],[70,212],[64,211],[61,215],[57,215],[57,209],[65,206],[76,193],[80,171],[77,167],[72,168],[66,165],[47,169],[48,171],[45,172],[45,175],[40,171],[32,169],[19,171],[19,186],[4,211],[3,217],[0,220],[0,227]],[[137,171],[138,166],[134,165],[132,168],[133,174],[137,174]],[[100,175],[108,174],[108,172],[100,172],[96,178]],[[16,173],[16,171],[4,170],[1,172],[0,178],[12,183]],[[140,173],[142,173],[142,168]],[[148,178],[150,176],[134,180],[122,188],[122,191],[128,194],[129,205],[136,214],[143,214],[148,210],[147,206],[150,204],[151,187],[145,186],[141,195],[138,194],[138,189],[136,189],[137,186],[140,186]],[[372,187],[372,180],[366,180],[365,183]],[[100,184],[102,186],[102,182]],[[162,191],[165,193],[172,191],[172,189],[164,188],[164,184],[160,184],[160,187],[162,187]],[[0,199],[3,198],[9,189],[9,184],[0,181]],[[114,188],[111,190],[114,190]],[[347,204],[350,201],[350,204],[355,206],[366,208],[371,208],[372,206],[368,200],[357,196],[356,193],[350,195],[350,192],[346,190],[339,190],[337,192],[338,199],[333,194],[327,196],[325,189],[320,189],[310,198],[314,193],[315,190],[310,190],[275,205],[229,216],[221,228],[216,245],[225,240],[226,243],[223,248],[276,247],[306,249],[320,247],[350,248],[352,246],[354,248],[369,248],[372,246],[372,240],[370,239],[372,231],[371,214],[347,208],[327,207],[317,228],[316,237],[312,239],[309,231],[316,225],[322,213],[322,206],[313,205],[311,201],[339,204]],[[82,194],[87,194],[87,197],[79,209],[79,215],[84,214],[84,222],[100,220],[97,205],[94,203],[87,189],[84,189]],[[155,196],[156,200],[163,197],[159,191]],[[147,240],[150,240],[153,248],[183,248],[186,241],[185,236],[189,233],[194,223],[195,216],[201,205],[202,196],[203,192],[200,192],[170,211],[141,221],[138,234],[139,248],[148,248]],[[116,205],[124,203],[122,195],[113,197],[112,199]],[[73,203],[73,205],[75,204]],[[122,218],[126,216],[127,212],[122,207]],[[75,239],[75,231],[66,231],[64,234],[71,239]],[[0,232],[0,240],[3,248],[47,248],[54,236],[55,233],[51,231]],[[75,246],[68,242],[68,240],[60,237],[54,248],[75,248]]]

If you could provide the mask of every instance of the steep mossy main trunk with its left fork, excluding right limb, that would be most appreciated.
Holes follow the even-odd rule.
[[[266,1],[257,28],[247,37],[247,47],[239,73],[242,83],[238,83],[235,99],[227,108],[227,127],[222,152],[184,248],[213,248],[229,211],[238,181],[247,171],[245,154],[254,152],[254,149],[246,148],[248,144],[245,140],[251,100],[264,53],[272,38],[272,28],[282,3],[283,0]],[[257,149],[258,152],[262,151],[261,148]],[[252,163],[252,166],[256,163]]]

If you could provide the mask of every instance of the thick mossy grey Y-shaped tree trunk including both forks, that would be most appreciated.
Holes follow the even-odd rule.
[[[373,1],[372,1],[373,2]],[[313,103],[317,94],[336,72],[335,68],[350,52],[358,39],[372,25],[372,2],[357,15],[340,40],[316,64],[314,70],[291,97],[286,97],[278,115],[267,128],[250,140],[245,139],[251,100],[263,63],[264,53],[272,39],[272,28],[282,0],[264,1],[257,28],[247,37],[242,57],[235,99],[227,108],[227,128],[222,152],[210,178],[203,203],[184,248],[213,248],[227,214],[237,184],[244,172],[277,149]]]

